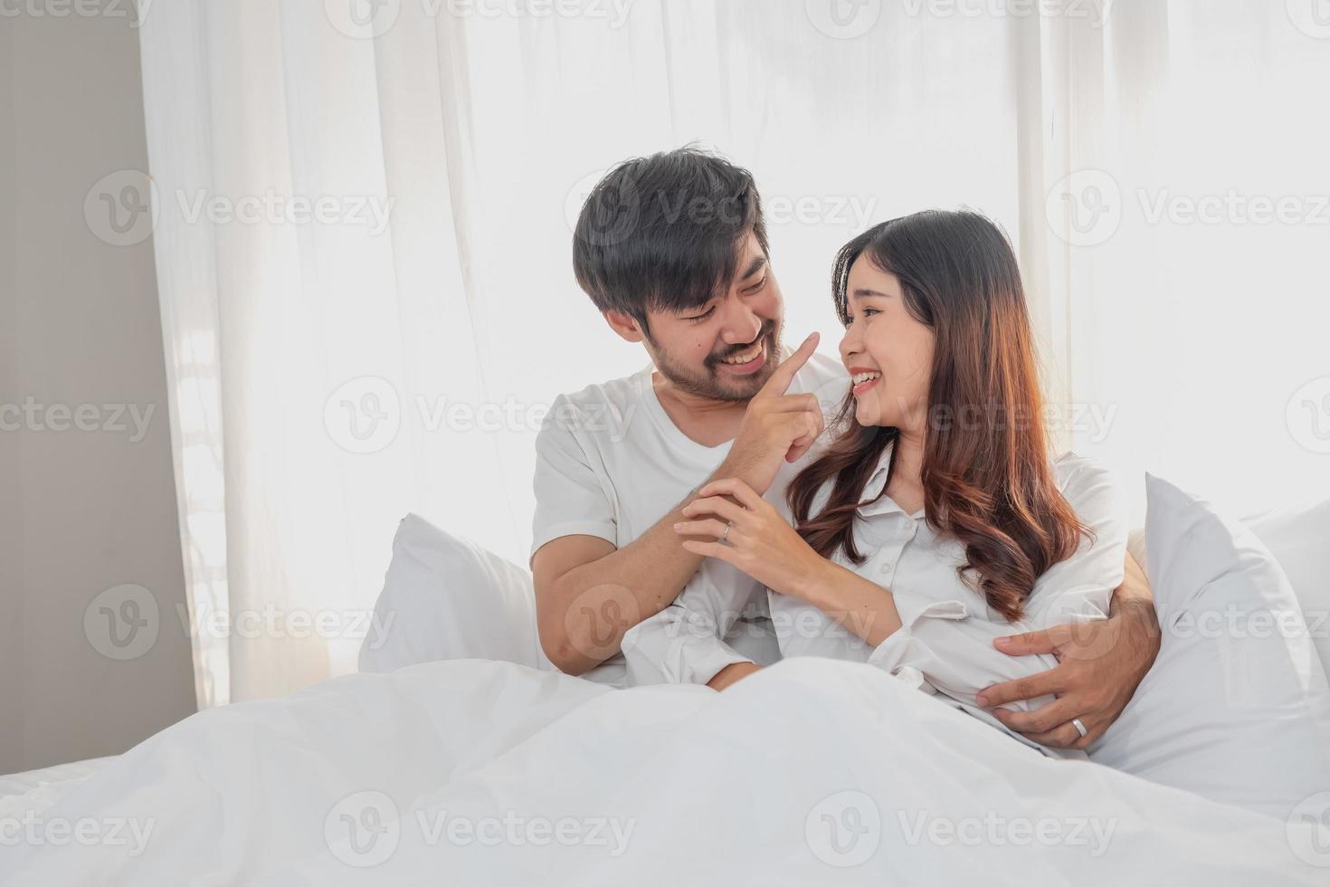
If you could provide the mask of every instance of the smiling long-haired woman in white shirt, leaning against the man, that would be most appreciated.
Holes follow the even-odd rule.
[[[1084,459],[1051,456],[1016,257],[987,218],[878,225],[833,283],[853,384],[833,439],[781,508],[737,479],[698,491],[676,531],[709,560],[625,637],[630,678],[720,689],[751,673],[724,637],[765,602],[782,657],[879,665],[1005,730],[975,696],[1056,662],[992,641],[1105,617],[1120,497]]]

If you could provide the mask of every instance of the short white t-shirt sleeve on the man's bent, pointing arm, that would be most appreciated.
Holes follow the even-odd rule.
[[[563,536],[598,536],[617,545],[618,521],[604,463],[577,435],[579,426],[576,406],[560,395],[536,435],[532,556]]]

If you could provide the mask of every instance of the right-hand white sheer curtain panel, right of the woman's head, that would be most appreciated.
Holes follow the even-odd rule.
[[[1077,449],[1237,515],[1330,496],[1330,4],[1120,1],[1065,45]]]

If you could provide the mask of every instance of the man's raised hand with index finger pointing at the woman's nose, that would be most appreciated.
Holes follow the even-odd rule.
[[[749,400],[743,424],[730,452],[712,477],[741,477],[761,496],[766,493],[781,461],[794,461],[822,434],[822,406],[813,394],[786,394],[790,383],[818,347],[814,332],[790,359],[778,366],[761,391]]]

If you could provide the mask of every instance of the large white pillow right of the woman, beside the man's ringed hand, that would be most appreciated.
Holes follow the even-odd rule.
[[[1285,818],[1330,791],[1330,688],[1293,588],[1250,531],[1145,484],[1160,654],[1091,758]]]

